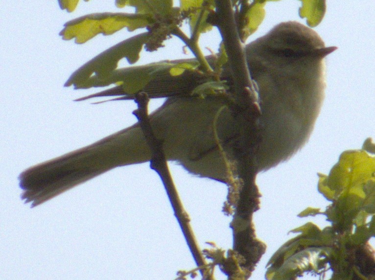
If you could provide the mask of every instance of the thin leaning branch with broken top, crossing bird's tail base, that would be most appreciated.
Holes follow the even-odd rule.
[[[168,194],[169,201],[172,205],[174,215],[176,216],[180,228],[185,236],[185,240],[188,243],[188,247],[194,257],[195,263],[197,264],[197,266],[206,267],[206,260],[202,255],[202,251],[199,248],[198,242],[189,224],[190,218],[188,216],[188,212],[182,205],[181,199],[170,175],[163,152],[163,142],[157,139],[152,131],[150,119],[147,112],[147,104],[149,101],[148,95],[144,92],[137,93],[135,96],[135,100],[138,104],[138,109],[135,110],[133,114],[138,118],[144,138],[151,149],[152,157],[150,166],[159,174],[160,178],[162,179],[165,190]],[[206,271],[208,270],[200,270],[203,279],[209,280],[211,279],[211,276],[207,275]]]

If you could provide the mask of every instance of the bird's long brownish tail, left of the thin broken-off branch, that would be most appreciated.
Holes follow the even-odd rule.
[[[20,175],[22,199],[32,207],[120,165],[150,159],[137,126],[119,131],[87,147],[32,166]]]

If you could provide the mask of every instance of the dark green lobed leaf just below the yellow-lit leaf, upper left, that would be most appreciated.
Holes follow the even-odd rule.
[[[87,88],[85,83],[93,74],[102,79],[109,77],[112,71],[117,68],[118,61],[124,57],[129,63],[135,63],[139,59],[141,48],[148,38],[148,33],[141,33],[103,51],[75,70],[65,86],[74,85],[75,88]]]

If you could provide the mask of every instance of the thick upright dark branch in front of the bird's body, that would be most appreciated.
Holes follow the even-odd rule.
[[[231,0],[215,0],[216,22],[224,41],[229,64],[234,79],[234,99],[236,107],[233,114],[240,130],[240,137],[235,145],[234,156],[238,162],[238,175],[244,186],[240,191],[237,209],[232,221],[234,250],[246,259],[245,268],[255,269],[260,257],[265,252],[265,244],[255,234],[253,213],[259,209],[259,191],[255,183],[258,171],[256,153],[260,142],[258,118],[260,107],[256,85],[250,76],[246,54],[238,35]]]

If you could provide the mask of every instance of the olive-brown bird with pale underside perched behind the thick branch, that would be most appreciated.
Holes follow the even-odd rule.
[[[336,48],[326,47],[317,32],[298,22],[279,23],[245,46],[261,100],[258,170],[265,171],[288,160],[308,140],[325,96],[325,57]],[[208,60],[212,63],[212,56]],[[223,66],[220,78],[231,91],[233,76],[228,64]],[[168,161],[180,163],[190,173],[225,182],[226,165],[215,136],[230,153],[238,128],[225,96],[208,94],[202,98],[186,94],[202,83],[194,71],[179,76],[156,74],[142,91],[150,95],[185,93],[168,97],[150,114],[152,129],[163,141]],[[121,92],[124,93],[123,88],[116,86],[96,96]],[[35,207],[113,168],[147,162],[151,156],[136,123],[24,170],[19,176],[21,197]]]

